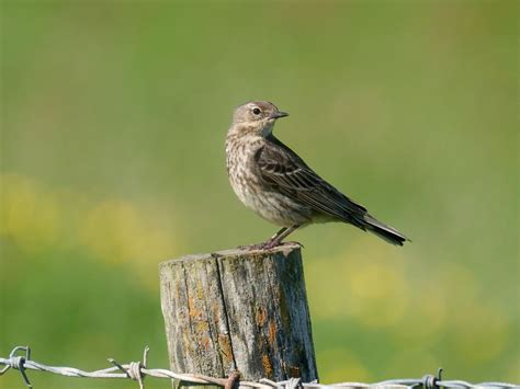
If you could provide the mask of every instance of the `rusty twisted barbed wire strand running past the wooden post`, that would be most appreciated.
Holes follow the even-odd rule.
[[[24,352],[24,355],[18,355],[20,352]],[[361,384],[361,382],[339,382],[323,385],[317,381],[302,382],[299,378],[291,378],[284,381],[272,381],[267,378],[260,379],[258,382],[240,380],[238,371],[233,371],[228,378],[214,378],[200,374],[180,374],[168,369],[160,368],[148,368],[148,352],[149,347],[146,346],[143,353],[142,362],[131,362],[129,364],[118,364],[115,359],[109,358],[108,361],[113,365],[112,367],[104,368],[101,370],[86,371],[75,367],[64,366],[47,366],[42,363],[31,359],[31,348],[29,346],[15,346],[8,358],[0,357],[0,365],[3,368],[0,370],[0,376],[5,374],[9,369],[19,370],[22,375],[24,384],[32,388],[32,384],[29,379],[26,370],[38,370],[50,374],[56,374],[66,377],[81,377],[81,378],[124,378],[137,381],[140,389],[145,388],[145,377],[156,378],[168,378],[178,381],[178,386],[203,386],[203,385],[216,385],[224,387],[225,389],[231,388],[259,388],[259,389],[323,389],[323,388],[423,388],[423,389],[440,389],[440,388],[517,388],[520,386],[506,382],[482,382],[482,384],[470,384],[463,380],[443,380],[442,369],[439,369],[437,376],[426,375],[422,378],[405,378],[405,379],[389,379],[375,384]]]

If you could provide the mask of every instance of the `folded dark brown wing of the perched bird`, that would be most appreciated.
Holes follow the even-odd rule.
[[[256,157],[267,184],[317,211],[365,229],[366,209],[327,183],[274,136],[268,138]]]

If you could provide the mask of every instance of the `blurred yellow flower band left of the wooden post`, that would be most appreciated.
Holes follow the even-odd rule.
[[[0,234],[21,250],[83,247],[109,264],[131,264],[145,284],[157,288],[150,262],[176,252],[171,224],[160,209],[122,199],[97,203],[74,190],[50,191],[20,174],[1,174]]]

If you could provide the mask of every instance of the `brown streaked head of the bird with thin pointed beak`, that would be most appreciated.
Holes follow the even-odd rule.
[[[271,134],[274,122],[285,116],[289,116],[286,112],[279,111],[268,101],[252,101],[235,110],[233,125],[239,126],[244,131],[265,137]]]

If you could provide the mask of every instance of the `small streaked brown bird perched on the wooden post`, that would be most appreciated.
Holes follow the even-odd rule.
[[[296,229],[328,221],[353,225],[395,245],[409,241],[325,181],[273,135],[275,122],[286,116],[268,101],[247,102],[234,111],[226,135],[226,168],[235,194],[246,207],[282,227],[248,248],[273,249]]]

